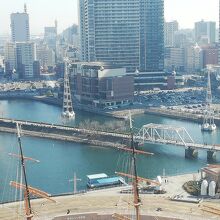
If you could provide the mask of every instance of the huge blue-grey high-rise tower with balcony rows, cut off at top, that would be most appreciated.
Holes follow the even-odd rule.
[[[80,0],[81,58],[163,70],[164,0]]]

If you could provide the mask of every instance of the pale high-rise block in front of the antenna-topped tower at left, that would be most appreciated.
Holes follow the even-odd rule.
[[[16,43],[17,73],[20,78],[34,78],[33,64],[36,60],[36,46],[31,42]]]

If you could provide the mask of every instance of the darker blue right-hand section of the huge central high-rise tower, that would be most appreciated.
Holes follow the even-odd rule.
[[[164,70],[164,0],[140,0],[140,71]]]

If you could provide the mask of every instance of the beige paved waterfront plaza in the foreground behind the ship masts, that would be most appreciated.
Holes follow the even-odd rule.
[[[189,195],[182,189],[182,185],[184,182],[195,178],[199,178],[199,174],[185,174],[163,178],[163,182],[166,179],[166,183],[163,183],[163,187],[165,187],[167,193],[161,195],[141,195],[141,213],[149,216],[167,217],[168,219],[208,220],[217,217],[215,214],[202,211],[201,206],[206,204],[220,209],[219,200],[209,199],[200,205],[170,200],[170,198],[175,195],[181,195],[187,198]],[[57,220],[75,219],[74,216],[77,214],[79,219],[86,219],[83,217],[84,214],[80,213],[98,213],[100,215],[113,214],[115,212],[124,213],[123,207],[125,207],[126,204],[124,202],[124,205],[122,205],[120,201],[127,201],[130,196],[121,194],[120,191],[122,189],[124,189],[124,187],[91,191],[85,194],[53,197],[53,199],[57,201],[56,204],[47,202],[44,199],[36,199],[31,203],[37,213],[35,219],[54,219],[57,216],[60,216],[60,218],[56,218]],[[0,205],[1,218],[4,220],[23,219],[23,207],[20,217],[17,217],[19,204],[20,203],[16,202]],[[123,207],[121,207],[121,205]],[[67,210],[69,214],[67,214]],[[63,218],[61,218],[61,216],[63,216]]]

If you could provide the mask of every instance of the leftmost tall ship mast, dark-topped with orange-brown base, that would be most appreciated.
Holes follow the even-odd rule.
[[[24,155],[21,145],[21,134],[20,134],[20,128],[18,123],[16,124],[17,127],[17,136],[18,136],[18,145],[20,150],[20,158],[21,158],[21,166],[24,176],[24,182],[25,182],[25,190],[24,190],[24,200],[25,200],[25,210],[26,210],[26,216],[27,220],[31,220],[33,217],[32,209],[31,209],[31,202],[30,202],[30,193],[28,189],[28,183],[27,183],[27,176],[26,176],[26,170],[25,170],[25,164],[24,164]]]

